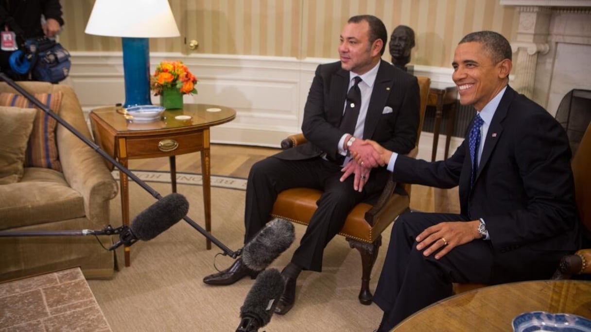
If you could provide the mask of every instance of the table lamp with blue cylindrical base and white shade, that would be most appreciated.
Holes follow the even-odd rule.
[[[124,107],[151,105],[148,38],[180,35],[168,0],[96,0],[85,32],[121,37]]]

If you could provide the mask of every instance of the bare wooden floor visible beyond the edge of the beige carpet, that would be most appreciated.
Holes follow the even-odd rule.
[[[210,148],[212,175],[247,178],[252,164],[279,149],[248,147],[244,145],[212,144]],[[201,172],[201,157],[199,152],[179,155],[176,158],[178,172]],[[151,158],[130,160],[131,170],[168,171],[168,158]],[[413,185],[411,192],[411,209],[425,212],[458,213],[457,188],[440,190],[437,188]]]

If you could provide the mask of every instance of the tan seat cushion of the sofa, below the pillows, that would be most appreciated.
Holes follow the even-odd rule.
[[[61,172],[25,167],[18,183],[0,185],[0,230],[85,216],[82,195]]]

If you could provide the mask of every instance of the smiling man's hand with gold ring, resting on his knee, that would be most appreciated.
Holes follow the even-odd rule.
[[[416,238],[418,242],[417,250],[427,248],[423,255],[429,256],[441,249],[435,255],[435,259],[440,259],[452,251],[453,248],[479,239],[479,224],[479,220],[473,220],[471,222],[443,222],[428,227]]]

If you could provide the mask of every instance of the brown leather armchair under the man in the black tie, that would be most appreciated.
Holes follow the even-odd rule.
[[[408,154],[416,157],[418,153],[418,139],[423,127],[425,109],[427,107],[427,96],[431,80],[428,77],[417,77],[420,88],[420,122],[418,126],[417,145]],[[296,147],[306,142],[303,134],[288,136],[281,141],[281,148],[287,149]],[[339,235],[345,236],[351,248],[356,248],[361,253],[362,279],[361,290],[359,291],[359,302],[369,305],[372,302],[372,293],[369,291],[369,279],[376,258],[378,249],[382,245],[381,233],[401,213],[409,210],[411,186],[404,185],[408,196],[401,196],[394,193],[397,184],[389,178],[384,190],[374,204],[359,203],[347,216],[343,229]],[[316,201],[320,198],[321,191],[312,188],[292,188],[282,191],[271,212],[272,217],[290,220],[294,223],[308,224],[314,211]]]

